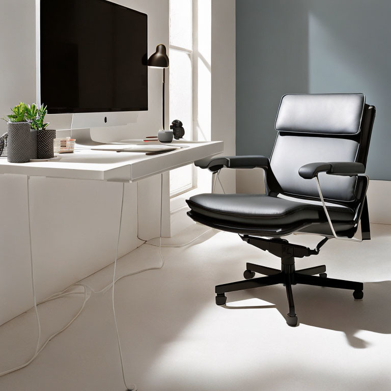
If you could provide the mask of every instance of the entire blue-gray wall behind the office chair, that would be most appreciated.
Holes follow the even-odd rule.
[[[236,154],[270,156],[287,93],[362,92],[376,106],[372,179],[391,180],[391,1],[236,0]]]

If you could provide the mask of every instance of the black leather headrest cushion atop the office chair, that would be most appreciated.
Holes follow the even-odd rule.
[[[364,94],[284,95],[275,129],[278,132],[357,134],[364,105]]]

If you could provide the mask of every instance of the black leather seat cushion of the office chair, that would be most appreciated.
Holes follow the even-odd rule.
[[[284,226],[299,222],[327,221],[322,205],[270,197],[265,194],[197,194],[186,201],[202,216],[250,226]],[[352,221],[346,206],[327,206],[332,221]]]

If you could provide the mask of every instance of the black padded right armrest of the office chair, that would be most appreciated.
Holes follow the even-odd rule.
[[[328,163],[309,163],[299,168],[299,175],[304,179],[315,178],[319,173],[325,172],[331,175],[343,175],[352,177],[365,173],[362,163],[353,161],[330,161]]]

